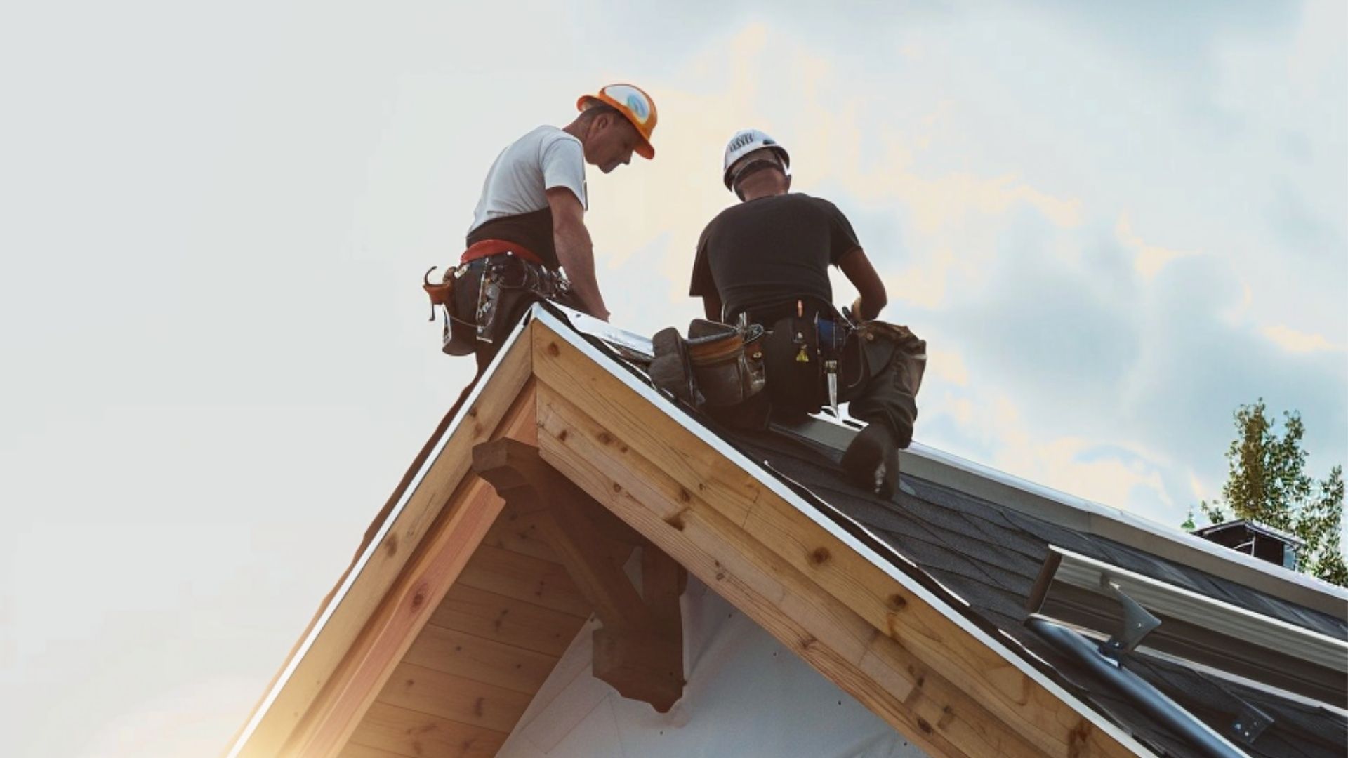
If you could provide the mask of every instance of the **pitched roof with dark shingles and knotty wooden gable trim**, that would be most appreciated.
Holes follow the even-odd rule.
[[[1197,754],[1024,629],[1049,544],[1344,638],[1341,595],[934,453],[909,456],[906,491],[876,500],[826,444],[674,405],[624,360],[640,347],[535,306],[417,456],[231,755],[495,753],[593,607],[530,517],[469,476],[469,452],[503,436],[593,498],[585,519],[616,535],[605,550],[635,541],[624,530],[659,548],[933,755]],[[1054,507],[1077,518],[1023,513]],[[1219,692],[1274,713],[1258,755],[1328,754],[1348,723],[1173,658],[1128,661],[1213,732],[1229,731]]]

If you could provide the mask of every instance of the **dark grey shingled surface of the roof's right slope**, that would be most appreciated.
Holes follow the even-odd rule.
[[[647,379],[603,340],[588,337],[627,370]],[[911,561],[949,595],[962,612],[1000,635],[1033,665],[1049,672],[1084,701],[1105,713],[1161,755],[1200,757],[1198,749],[1154,718],[1136,709],[1116,688],[1096,678],[1024,626],[1029,597],[1049,545],[1097,558],[1209,597],[1348,639],[1348,623],[1211,573],[1153,556],[1139,548],[1081,533],[1026,515],[942,484],[903,475],[903,492],[883,500],[842,476],[840,453],[772,432],[729,430],[693,411],[710,433],[763,464],[805,495],[813,495],[833,518],[855,522],[902,558]],[[844,525],[847,526],[847,525]],[[902,564],[896,558],[896,565]],[[902,566],[913,571],[914,566]],[[1348,718],[1340,711],[1263,688],[1216,678],[1196,668],[1135,651],[1126,668],[1161,689],[1212,730],[1235,742],[1231,724],[1246,703],[1273,718],[1252,743],[1251,755],[1341,758],[1348,745]]]

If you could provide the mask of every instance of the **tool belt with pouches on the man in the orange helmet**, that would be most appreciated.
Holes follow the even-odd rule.
[[[488,245],[488,243],[492,243]],[[561,271],[547,268],[538,256],[508,243],[484,240],[450,266],[439,283],[430,282],[431,267],[422,276],[422,289],[443,317],[442,347],[448,355],[472,355],[480,344],[499,344],[515,325],[519,313],[534,299],[570,299],[570,282]],[[476,248],[476,251],[474,251]]]

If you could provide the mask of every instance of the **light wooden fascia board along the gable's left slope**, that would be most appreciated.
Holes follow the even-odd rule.
[[[458,490],[460,482],[468,472],[469,450],[473,445],[489,440],[507,411],[514,406],[530,379],[531,363],[530,340],[526,333],[501,356],[488,386],[483,387],[477,398],[464,409],[464,421],[453,430],[426,475],[412,488],[402,513],[360,573],[352,580],[345,595],[337,599],[334,589],[324,600],[324,607],[314,616],[315,622],[328,606],[338,604],[303,651],[303,658],[294,664],[295,669],[282,684],[282,672],[290,669],[294,658],[301,654],[303,639],[309,637],[314,626],[310,624],[310,630],[306,630],[301,643],[295,645],[272,684],[268,685],[268,693],[263,695],[253,712],[249,713],[248,723],[256,718],[256,726],[248,732],[247,739],[243,735],[248,723],[240,731],[240,736],[236,739],[240,757],[270,758],[276,755],[280,746],[291,738],[299,720],[310,711],[344,655],[407,565],[414,548],[422,541],[446,500]],[[532,425],[519,430],[519,436],[526,440],[532,433]],[[391,502],[399,496],[402,490],[400,486]],[[338,580],[338,587],[345,580],[344,575]],[[272,692],[275,693],[274,700],[262,712]]]

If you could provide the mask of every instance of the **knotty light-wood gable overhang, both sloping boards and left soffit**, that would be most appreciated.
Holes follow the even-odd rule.
[[[613,560],[636,541],[671,556],[930,755],[1147,754],[586,347],[524,328],[231,755],[495,754],[596,606],[551,533],[470,472],[503,437],[601,506],[586,518]]]

